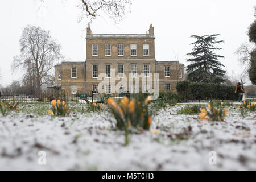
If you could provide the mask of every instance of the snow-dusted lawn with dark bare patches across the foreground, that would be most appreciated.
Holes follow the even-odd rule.
[[[225,122],[201,121],[176,114],[184,105],[159,110],[150,129],[158,133],[133,133],[128,146],[108,111],[51,117],[28,109],[0,116],[0,169],[256,170],[255,113],[242,117],[228,107]],[[46,152],[46,165],[38,163],[39,151]],[[210,151],[216,165],[209,164]]]

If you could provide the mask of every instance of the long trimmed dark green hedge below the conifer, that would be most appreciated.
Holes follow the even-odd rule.
[[[187,100],[237,100],[236,86],[180,81],[176,83],[177,94]]]

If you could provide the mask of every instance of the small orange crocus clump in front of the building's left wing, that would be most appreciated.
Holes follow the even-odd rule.
[[[52,110],[49,110],[48,113],[51,115],[57,116],[65,116],[66,114],[69,115],[71,109],[68,110],[67,106],[65,105],[65,101],[60,100],[52,100]]]

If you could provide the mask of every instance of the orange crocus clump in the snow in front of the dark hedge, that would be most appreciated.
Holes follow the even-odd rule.
[[[224,121],[224,117],[228,114],[226,108],[222,110],[214,107],[213,101],[209,101],[208,109],[209,111],[207,111],[206,109],[201,109],[201,113],[199,114],[200,119],[209,119],[211,121]]]

